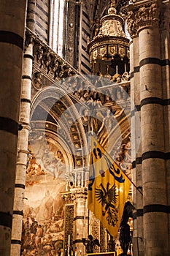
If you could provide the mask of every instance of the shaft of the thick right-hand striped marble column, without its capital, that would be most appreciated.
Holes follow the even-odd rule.
[[[155,43],[157,42],[157,43]],[[166,170],[158,27],[139,31],[145,255],[166,255]],[[159,235],[158,235],[159,234]]]

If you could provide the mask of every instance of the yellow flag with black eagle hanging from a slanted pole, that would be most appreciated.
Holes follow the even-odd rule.
[[[88,208],[109,234],[116,237],[131,181],[104,148],[91,137]]]

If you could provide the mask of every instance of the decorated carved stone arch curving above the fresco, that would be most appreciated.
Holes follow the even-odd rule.
[[[53,134],[53,138],[65,148],[64,154],[69,148],[66,159],[70,159],[71,162],[67,164],[73,165],[73,168],[85,167],[88,162],[88,147],[78,112],[79,105],[78,102],[74,104],[69,94],[56,86],[42,89],[31,101],[30,138],[38,130],[44,132],[44,136]]]

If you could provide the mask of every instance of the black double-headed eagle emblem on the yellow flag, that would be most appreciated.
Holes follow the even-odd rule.
[[[111,186],[111,187],[110,187]],[[107,214],[107,222],[109,225],[115,226],[117,218],[117,209],[115,208],[115,203],[117,203],[117,193],[115,184],[109,184],[107,182],[107,187],[104,188],[103,184],[99,185],[100,188],[95,189],[96,199],[102,206],[102,215],[105,217]]]

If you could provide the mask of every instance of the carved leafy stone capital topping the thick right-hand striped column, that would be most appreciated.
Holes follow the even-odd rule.
[[[131,37],[146,26],[159,25],[158,1],[138,1],[127,7],[127,29]]]

